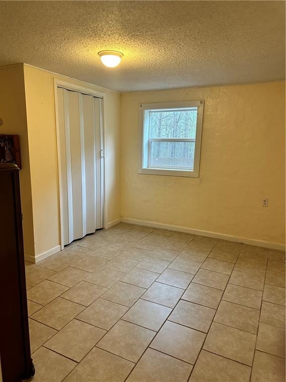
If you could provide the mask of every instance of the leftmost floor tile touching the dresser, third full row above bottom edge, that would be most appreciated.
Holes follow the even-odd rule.
[[[41,305],[47,305],[69,288],[67,286],[44,280],[27,291],[27,298]]]

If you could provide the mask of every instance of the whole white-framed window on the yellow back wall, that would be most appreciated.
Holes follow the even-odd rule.
[[[140,174],[199,177],[204,101],[141,104]]]

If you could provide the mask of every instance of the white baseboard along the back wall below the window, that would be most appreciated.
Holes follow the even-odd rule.
[[[172,231],[191,233],[193,235],[209,236],[209,237],[214,237],[215,239],[236,241],[236,242],[239,242],[239,243],[244,243],[244,244],[249,244],[249,245],[256,245],[258,247],[266,247],[266,248],[270,248],[270,249],[277,249],[277,250],[280,250],[280,251],[285,251],[285,245],[280,244],[280,243],[270,243],[268,241],[260,241],[260,240],[248,239],[248,238],[245,238],[245,237],[237,237],[237,236],[225,235],[223,233],[202,231],[202,230],[199,230],[199,229],[192,229],[192,228],[187,228],[187,227],[181,227],[181,226],[178,226],[178,225],[163,224],[163,223],[158,223],[158,222],[154,222],[154,221],[130,219],[128,217],[122,217],[121,221],[124,222],[124,223],[144,225],[144,226],[152,227],[152,228],[169,229],[169,230],[172,230]]]

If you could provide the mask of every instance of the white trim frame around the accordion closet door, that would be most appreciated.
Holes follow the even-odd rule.
[[[60,123],[59,123],[59,103],[58,103],[58,88],[64,88],[74,92],[83,93],[86,95],[92,95],[97,98],[101,98],[101,137],[100,137],[100,155],[103,158],[101,168],[101,192],[102,192],[102,204],[103,204],[103,228],[106,228],[106,205],[105,205],[105,113],[104,113],[104,99],[106,94],[90,88],[75,85],[73,83],[62,81],[54,78],[54,96],[55,96],[55,111],[56,111],[56,135],[57,135],[57,158],[58,158],[58,191],[59,191],[59,206],[60,206],[60,232],[61,232],[61,250],[64,249],[64,224],[63,224],[63,186],[61,176],[61,150],[60,150]]]

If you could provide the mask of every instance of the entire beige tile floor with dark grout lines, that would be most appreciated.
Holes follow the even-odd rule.
[[[33,381],[285,381],[283,255],[120,223],[27,263]]]

